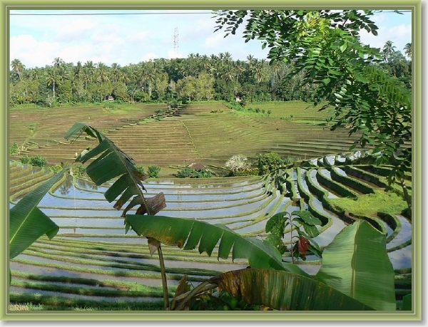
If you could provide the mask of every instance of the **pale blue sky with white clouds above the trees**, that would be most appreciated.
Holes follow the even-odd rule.
[[[42,11],[14,10],[10,16],[10,60],[26,68],[51,65],[54,58],[76,64],[102,62],[126,66],[153,58],[186,58],[190,53],[217,55],[228,51],[234,60],[252,54],[266,58],[267,49],[238,35],[223,38],[215,30],[211,11]],[[412,41],[412,15],[390,11],[373,20],[379,35],[362,33],[362,41],[382,48],[392,41],[396,50]]]

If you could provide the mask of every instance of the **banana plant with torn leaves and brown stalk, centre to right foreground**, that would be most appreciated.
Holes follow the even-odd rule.
[[[392,308],[392,302],[394,301],[391,297],[391,294],[394,294],[394,271],[386,254],[386,237],[377,230],[374,232],[374,227],[369,223],[365,221],[356,222],[353,225],[345,227],[337,235],[337,239],[325,249],[326,251],[330,247],[327,250],[327,254],[330,255],[323,256],[322,267],[320,273],[317,274],[317,280],[315,280],[297,265],[282,261],[280,252],[270,242],[243,237],[223,225],[211,225],[195,219],[154,216],[154,214],[165,207],[163,193],[159,193],[151,199],[145,199],[143,196],[145,188],[142,184],[145,176],[138,172],[135,162],[131,157],[118,149],[108,137],[98,132],[96,128],[83,123],[76,123],[68,131],[66,138],[69,139],[76,134],[79,136],[82,133],[86,133],[90,137],[95,137],[99,141],[99,145],[93,150],[83,152],[76,158],[76,161],[86,162],[87,160],[93,160],[88,165],[86,172],[96,185],[101,185],[113,178],[117,178],[104,195],[109,202],[113,202],[113,200],[120,196],[113,206],[116,209],[121,209],[125,203],[129,202],[122,213],[122,217],[125,218],[126,231],[128,232],[128,229],[132,228],[138,235],[148,238],[148,242],[151,244],[151,252],[154,253],[158,249],[161,269],[164,268],[161,243],[180,246],[184,249],[194,249],[198,246],[200,253],[206,251],[208,255],[211,255],[215,246],[218,245],[218,258],[226,259],[231,252],[233,259],[247,258],[252,269],[270,269],[272,271],[292,274],[292,276],[287,275],[287,277],[280,278],[290,279],[292,283],[302,283],[309,289],[312,289],[316,285],[320,289],[327,287],[327,293],[320,290],[319,294],[330,294],[331,299],[329,301],[334,299],[338,293],[342,296],[342,299],[350,297],[365,305],[355,306],[354,303],[350,307],[347,307],[348,310],[357,310],[357,307],[359,310],[369,310],[370,308],[374,308],[375,310],[395,309]],[[131,197],[133,198],[131,199]],[[128,211],[137,205],[139,207],[136,209],[136,214],[128,214]],[[370,247],[370,252],[367,246]],[[372,256],[372,258],[367,259],[369,256]],[[344,258],[346,259],[345,262],[341,262]],[[384,267],[380,276],[378,274],[379,266]],[[343,269],[345,269],[344,276],[342,276]],[[266,274],[265,271],[260,271],[260,273]],[[248,273],[245,272],[242,276],[247,276],[246,274]],[[258,274],[258,272],[255,274]],[[238,278],[238,276],[241,275],[238,273],[226,274],[222,278],[212,279],[211,282],[226,287],[225,285],[228,285],[228,283],[223,282],[223,279],[234,279],[233,283],[243,284],[242,287],[245,289],[250,287],[247,284],[253,284],[251,287],[254,287],[254,289],[250,294],[261,294],[263,290],[274,287],[268,284],[269,279],[257,277],[253,280],[248,277]],[[200,289],[204,289],[206,283],[209,282],[205,281],[205,284],[190,291],[191,295],[196,294]],[[233,285],[233,283],[230,285]],[[270,296],[275,296],[275,290],[280,294],[290,292],[292,283],[285,283],[279,289],[272,289],[273,293]],[[168,293],[165,294],[168,290],[166,289],[164,269],[163,286],[165,308],[169,308]],[[277,285],[275,285],[276,287]],[[233,293],[233,290],[231,291]],[[367,296],[362,296],[365,292],[367,292]],[[300,306],[297,306],[295,303],[292,305],[287,303],[290,299],[297,302],[307,301],[307,299],[300,297],[299,291],[292,291],[292,294],[292,296],[290,295],[291,298],[287,296],[284,298],[283,301],[285,303],[278,304],[275,302],[275,304],[272,301],[267,301],[266,305],[272,305],[275,308],[292,309],[300,308]],[[312,295],[307,293],[302,294],[305,294],[305,296],[315,296],[314,301],[327,301],[325,295],[317,295],[318,291],[315,291]],[[181,294],[181,297],[183,297],[183,294]],[[245,296],[245,298],[253,301],[252,296]],[[265,296],[264,299],[268,299],[268,296]],[[304,309],[319,307],[303,306]],[[344,307],[335,306],[335,308],[340,309]],[[333,307],[327,309],[331,310]]]

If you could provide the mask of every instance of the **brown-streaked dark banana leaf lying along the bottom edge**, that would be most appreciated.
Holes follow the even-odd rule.
[[[210,283],[245,302],[286,311],[370,311],[315,279],[273,269],[241,269],[214,276]]]

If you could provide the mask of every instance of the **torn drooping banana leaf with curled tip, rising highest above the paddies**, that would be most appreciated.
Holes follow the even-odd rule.
[[[86,133],[91,137],[96,137],[99,144],[92,150],[86,150],[76,158],[76,161],[86,162],[94,159],[88,167],[86,173],[93,180],[96,185],[101,185],[105,182],[118,177],[118,179],[108,188],[104,197],[108,202],[113,202],[119,197],[114,208],[120,210],[123,204],[128,202],[126,209],[123,210],[123,217],[126,212],[136,205],[140,205],[137,209],[138,213],[156,214],[161,211],[165,204],[165,197],[163,193],[159,193],[156,197],[145,199],[143,190],[146,190],[142,181],[145,180],[146,175],[141,174],[137,170],[136,163],[133,158],[120,150],[113,141],[99,132],[96,128],[85,123],[75,123],[65,135],[66,140],[71,137],[79,137],[82,133]]]

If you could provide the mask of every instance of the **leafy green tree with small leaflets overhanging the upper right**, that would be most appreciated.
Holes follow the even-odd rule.
[[[362,29],[377,35],[373,11],[238,10],[217,11],[215,31],[235,34],[246,19],[245,41],[258,38],[270,48],[270,63],[293,63],[290,76],[303,71],[316,85],[312,101],[335,108],[332,129],[347,126],[358,142],[374,146],[377,162],[393,165],[389,183],[400,180],[411,209],[404,174],[412,169],[411,92],[387,74],[378,49],[362,44]],[[392,43],[390,44],[393,49]],[[383,54],[388,54],[384,48]]]

